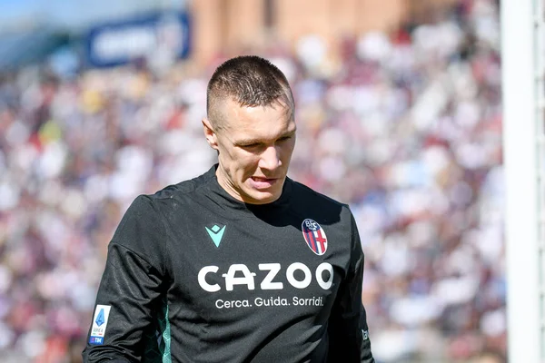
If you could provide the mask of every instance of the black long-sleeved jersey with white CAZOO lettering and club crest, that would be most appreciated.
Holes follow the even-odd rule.
[[[373,362],[349,208],[289,178],[245,204],[216,167],[126,211],[84,361]]]

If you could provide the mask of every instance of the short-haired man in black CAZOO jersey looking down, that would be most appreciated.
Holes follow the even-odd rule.
[[[139,196],[115,231],[84,361],[373,362],[352,213],[286,177],[282,72],[220,65],[203,129],[218,163]]]

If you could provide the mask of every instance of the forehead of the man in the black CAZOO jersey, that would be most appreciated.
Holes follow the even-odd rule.
[[[223,103],[223,131],[233,141],[240,138],[268,140],[295,131],[292,110],[283,103],[241,106],[233,100]]]

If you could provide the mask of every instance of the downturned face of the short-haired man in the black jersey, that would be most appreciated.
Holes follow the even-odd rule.
[[[206,140],[219,152],[218,182],[239,201],[265,204],[282,194],[295,146],[295,122],[280,103],[266,107],[222,105],[222,128],[204,119]]]

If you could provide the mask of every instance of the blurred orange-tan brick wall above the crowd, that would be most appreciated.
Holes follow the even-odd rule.
[[[272,27],[266,26],[270,1]],[[302,35],[320,34],[327,44],[345,34],[394,29],[430,5],[458,0],[193,0],[193,59],[259,49],[266,42],[293,45]]]

